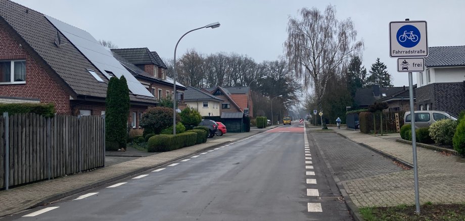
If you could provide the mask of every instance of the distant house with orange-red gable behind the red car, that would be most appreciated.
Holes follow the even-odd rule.
[[[243,112],[244,114],[249,114],[250,117],[253,117],[253,101],[252,96],[250,96],[251,91],[249,87],[218,86],[203,89],[210,92],[210,94],[225,100],[225,103],[221,104],[221,113],[223,113],[223,111]],[[229,105],[227,104],[227,101],[229,101]],[[234,107],[231,107],[231,104]]]

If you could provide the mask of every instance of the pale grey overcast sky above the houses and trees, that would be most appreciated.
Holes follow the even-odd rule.
[[[429,46],[465,45],[465,1],[119,1],[14,0],[26,7],[84,29],[96,39],[111,40],[120,48],[148,47],[162,58],[172,58],[185,32],[213,22],[216,29],[186,35],[177,54],[195,48],[205,54],[219,51],[247,54],[256,62],[283,55],[289,16],[298,10],[328,4],[339,19],[351,18],[358,38],[365,42],[363,64],[369,70],[376,58],[388,66],[394,86],[408,85],[407,73],[398,73],[389,57],[389,22],[405,18],[428,22]],[[413,76],[414,83],[416,76]]]

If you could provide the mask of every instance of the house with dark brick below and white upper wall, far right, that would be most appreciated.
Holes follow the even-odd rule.
[[[458,115],[465,110],[465,45],[428,50],[425,72],[416,73],[415,109]]]

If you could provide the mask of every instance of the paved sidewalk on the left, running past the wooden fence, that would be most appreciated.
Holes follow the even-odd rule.
[[[0,218],[20,212],[21,210],[44,205],[63,197],[79,193],[84,190],[98,187],[159,165],[177,160],[179,158],[203,151],[225,143],[249,137],[264,132],[276,126],[253,130],[248,133],[238,133],[218,139],[209,139],[206,143],[181,149],[162,152],[154,155],[136,158],[126,162],[79,173],[67,177],[42,181],[25,186],[0,191]]]

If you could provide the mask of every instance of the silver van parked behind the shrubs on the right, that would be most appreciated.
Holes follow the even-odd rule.
[[[429,127],[434,122],[443,119],[452,119],[456,121],[457,117],[441,111],[415,111],[415,128]],[[410,124],[411,121],[412,117],[410,112],[405,112],[404,124]]]

